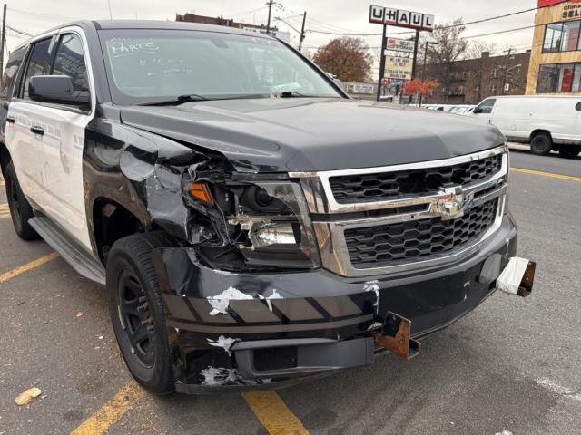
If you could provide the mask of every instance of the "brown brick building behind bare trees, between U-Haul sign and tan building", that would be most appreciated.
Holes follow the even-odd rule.
[[[529,62],[530,50],[502,56],[483,52],[478,59],[457,61],[450,68],[449,86],[437,88],[425,102],[477,104],[492,95],[524,95]],[[437,68],[428,64],[426,78],[438,80]]]

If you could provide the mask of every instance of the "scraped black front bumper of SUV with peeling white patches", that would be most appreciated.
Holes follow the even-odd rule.
[[[345,278],[320,269],[242,275],[201,266],[188,248],[160,249],[156,268],[176,390],[272,388],[370,364],[379,352],[371,330],[389,312],[411,320],[415,338],[443,329],[495,291],[516,251],[509,215],[472,256],[420,274]],[[215,304],[212,298],[221,294],[231,298]]]

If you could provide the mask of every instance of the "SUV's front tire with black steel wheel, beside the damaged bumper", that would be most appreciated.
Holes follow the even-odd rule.
[[[113,330],[135,381],[154,394],[174,391],[172,354],[153,248],[168,246],[162,232],[117,240],[107,258]]]

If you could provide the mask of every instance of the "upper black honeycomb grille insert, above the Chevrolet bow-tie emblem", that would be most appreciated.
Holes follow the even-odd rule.
[[[502,166],[502,155],[452,166],[354,174],[329,179],[333,197],[340,204],[353,204],[424,195],[452,185],[468,185],[487,179]]]

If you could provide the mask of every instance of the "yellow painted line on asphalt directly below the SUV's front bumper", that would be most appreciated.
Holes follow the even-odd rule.
[[[309,435],[275,391],[242,392],[242,397],[271,435]]]

